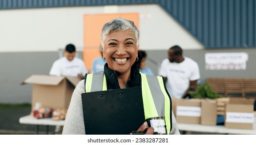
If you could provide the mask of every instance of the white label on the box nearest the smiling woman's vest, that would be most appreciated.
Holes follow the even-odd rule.
[[[184,117],[200,117],[201,107],[177,106],[176,114],[178,116],[184,116]]]

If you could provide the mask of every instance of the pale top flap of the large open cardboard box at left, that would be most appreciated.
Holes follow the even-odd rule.
[[[58,85],[65,77],[57,77],[50,75],[32,75],[23,81],[21,84],[43,84],[43,85]]]

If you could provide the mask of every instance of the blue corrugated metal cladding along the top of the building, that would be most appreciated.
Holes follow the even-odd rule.
[[[256,47],[255,0],[1,0],[0,9],[159,4],[206,48]]]

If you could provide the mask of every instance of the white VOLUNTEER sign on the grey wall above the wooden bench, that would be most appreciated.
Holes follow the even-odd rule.
[[[245,70],[248,54],[245,52],[206,53],[206,70]]]

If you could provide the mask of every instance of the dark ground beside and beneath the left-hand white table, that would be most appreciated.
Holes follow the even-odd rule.
[[[31,107],[11,106],[0,107],[0,134],[18,134],[24,135],[36,134],[36,125],[20,124],[19,118],[30,114]],[[39,126],[39,134],[46,134],[46,126]],[[54,134],[55,126],[49,126],[49,134]]]

